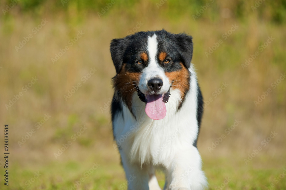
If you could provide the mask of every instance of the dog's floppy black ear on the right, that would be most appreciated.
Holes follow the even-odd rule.
[[[180,58],[186,68],[189,68],[193,56],[193,41],[192,37],[185,33],[175,35],[175,42],[180,48]]]

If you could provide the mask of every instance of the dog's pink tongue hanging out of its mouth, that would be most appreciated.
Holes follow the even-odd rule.
[[[166,116],[167,109],[165,103],[162,101],[162,94],[147,95],[147,104],[145,112],[151,119],[163,119]]]

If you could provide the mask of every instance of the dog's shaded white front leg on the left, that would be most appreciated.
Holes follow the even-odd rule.
[[[149,190],[149,175],[147,169],[144,166],[141,168],[139,164],[130,163],[130,160],[123,150],[119,152],[127,180],[126,183],[124,183],[125,188],[128,186],[128,190]],[[124,186],[122,186],[122,188]]]

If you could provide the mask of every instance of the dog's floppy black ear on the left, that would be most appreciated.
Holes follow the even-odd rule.
[[[122,68],[123,55],[127,49],[128,41],[129,40],[127,38],[119,38],[119,39],[112,39],[110,43],[111,58],[117,74],[120,72]]]

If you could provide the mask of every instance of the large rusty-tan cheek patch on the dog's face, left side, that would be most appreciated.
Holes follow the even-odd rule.
[[[120,73],[113,78],[113,87],[120,93],[126,105],[132,111],[132,95],[136,92],[136,86],[139,85],[141,73],[131,73],[125,69],[126,63],[123,63]]]

